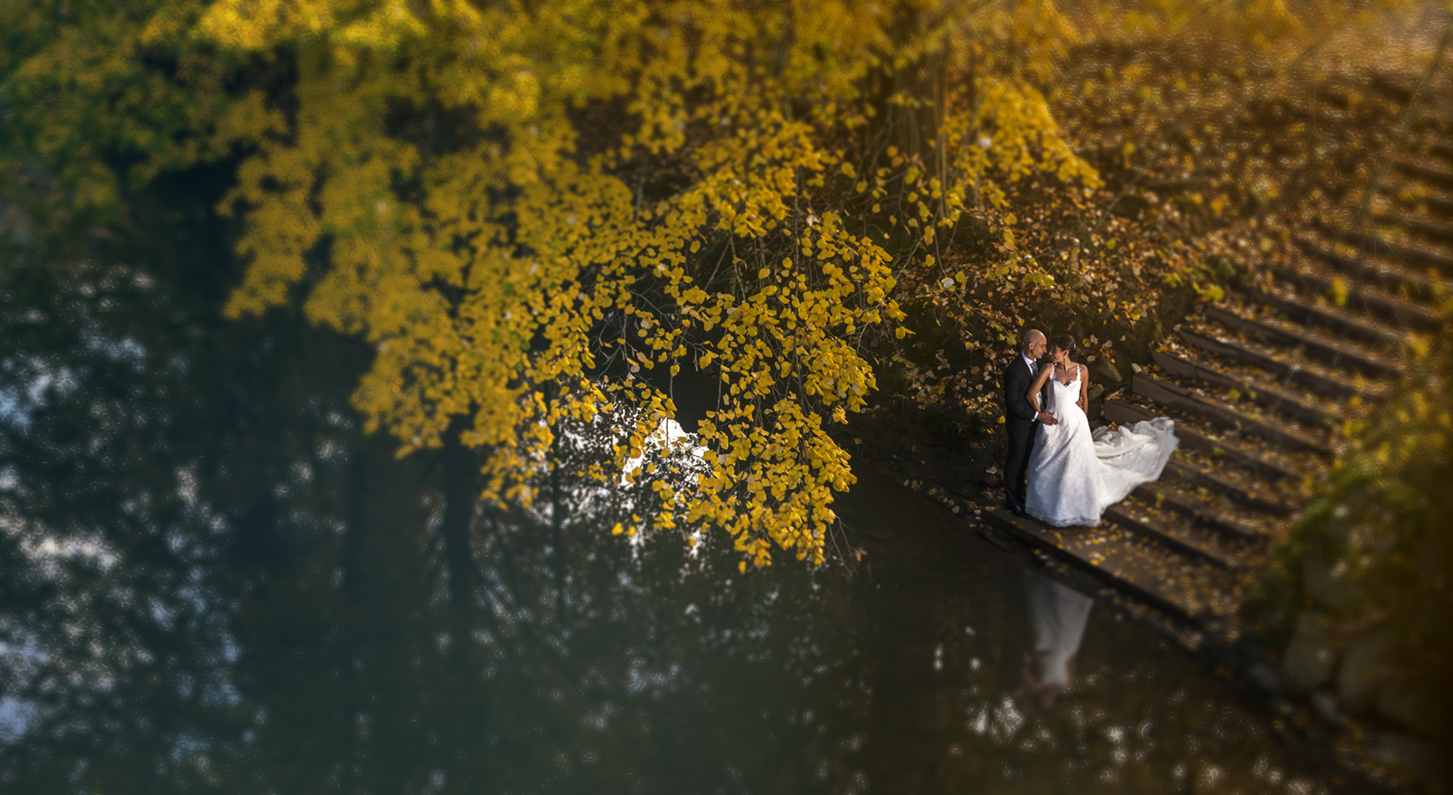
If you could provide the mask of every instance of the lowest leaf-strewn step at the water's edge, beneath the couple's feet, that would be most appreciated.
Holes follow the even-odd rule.
[[[987,510],[984,516],[1029,546],[1199,628],[1213,625],[1221,616],[1231,618],[1239,606],[1235,581],[1223,568],[1114,525],[1053,528],[1004,509]]]

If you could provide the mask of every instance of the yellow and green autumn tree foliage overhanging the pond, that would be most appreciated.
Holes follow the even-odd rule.
[[[655,478],[665,510],[642,526],[706,522],[756,565],[773,548],[821,562],[853,483],[828,432],[867,405],[875,359],[907,368],[920,400],[989,392],[982,368],[972,391],[927,384],[943,352],[898,342],[924,330],[905,307],[943,308],[955,344],[988,358],[1045,302],[1094,295],[1135,323],[1155,301],[1139,260],[1113,253],[1104,158],[1082,156],[1129,169],[1136,144],[1065,109],[1122,86],[1164,119],[1164,74],[1072,93],[1069,55],[1197,29],[1245,61],[1354,10],[7,3],[0,173],[36,217],[70,222],[224,161],[219,209],[250,263],[228,314],[301,294],[311,320],[368,339],[355,405],[401,453],[464,427],[488,452],[485,497],[529,503],[567,426],[623,423],[590,474]],[[1184,237],[1142,243],[1146,272],[1199,267],[1205,246]],[[719,394],[686,484],[628,467],[683,375]]]

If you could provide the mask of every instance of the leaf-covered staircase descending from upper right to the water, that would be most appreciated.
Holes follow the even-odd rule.
[[[1154,366],[1104,401],[1107,421],[1175,421],[1180,449],[1158,483],[1110,507],[1098,528],[1058,529],[1001,509],[984,517],[1157,613],[1186,645],[1235,647],[1270,545],[1319,491],[1340,439],[1447,327],[1453,125],[1422,118],[1412,129],[1370,227],[1351,211],[1316,218],[1293,265],[1189,317]]]

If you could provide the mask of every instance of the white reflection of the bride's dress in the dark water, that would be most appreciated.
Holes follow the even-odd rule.
[[[1090,621],[1088,596],[1049,577],[1024,570],[1029,602],[1030,654],[1024,679],[1042,709],[1055,705],[1059,690],[1074,685],[1074,660]]]

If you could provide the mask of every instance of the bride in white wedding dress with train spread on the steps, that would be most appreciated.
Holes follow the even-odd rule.
[[[1039,436],[1029,459],[1029,490],[1024,512],[1059,528],[1096,526],[1104,509],[1119,503],[1142,483],[1161,477],[1175,451],[1175,424],[1155,417],[1090,433],[1085,405],[1090,374],[1074,362],[1075,340],[1061,334],[1051,342],[1048,368],[1029,388],[1029,403],[1049,411],[1059,423],[1039,423]],[[1040,395],[1048,390],[1048,405]]]

